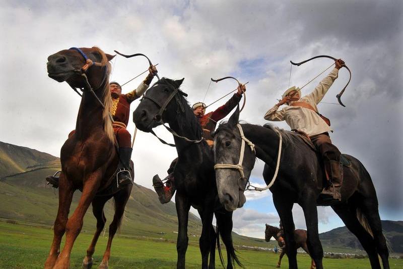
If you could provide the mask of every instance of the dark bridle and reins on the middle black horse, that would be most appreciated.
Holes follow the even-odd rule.
[[[140,101],[143,101],[144,99],[149,99],[152,102],[154,102],[160,108],[158,113],[154,115],[153,121],[155,121],[158,124],[163,125],[172,135],[174,135],[176,137],[179,137],[179,138],[182,138],[187,142],[200,143],[201,141],[204,140],[203,137],[201,137],[198,140],[192,140],[192,139],[189,139],[187,137],[181,136],[181,135],[177,134],[174,130],[172,130],[170,127],[166,126],[164,121],[162,120],[162,116],[163,116],[163,114],[165,112],[165,109],[166,109],[166,107],[168,106],[168,104],[171,102],[171,100],[173,98],[175,98],[176,103],[178,104],[178,110],[176,111],[176,117],[178,116],[179,113],[184,113],[185,112],[185,107],[183,106],[182,102],[179,99],[179,94],[182,95],[182,96],[187,96],[187,94],[184,93],[183,91],[181,91],[179,88],[174,88],[174,90],[171,92],[171,94],[168,96],[168,98],[164,101],[163,104],[161,104],[160,101],[155,99],[154,97],[147,96],[146,94],[143,95],[143,98]],[[152,133],[155,137],[157,137],[158,140],[161,141],[161,143],[169,145],[169,146],[172,146],[172,147],[176,147],[175,144],[168,143],[165,140],[163,140],[160,137],[158,137],[152,129],[151,129],[150,133]]]

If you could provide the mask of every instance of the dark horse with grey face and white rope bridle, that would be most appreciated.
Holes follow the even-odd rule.
[[[244,200],[243,192],[256,157],[265,163],[263,178],[267,185],[270,184],[278,163],[281,137],[283,148],[280,152],[280,168],[270,191],[283,223],[290,268],[297,268],[292,216],[294,203],[298,203],[304,211],[308,250],[318,269],[323,268],[323,249],[318,234],[317,205],[330,205],[333,208],[347,228],[357,236],[368,253],[372,268],[381,268],[378,254],[383,268],[389,268],[389,252],[382,234],[375,188],[370,175],[358,159],[343,154],[343,158],[347,160],[341,169],[344,177],[342,201],[319,199],[326,180],[317,152],[292,132],[271,125],[238,124],[238,118],[239,109],[227,124],[219,126],[214,140],[216,164],[222,166],[221,164],[238,162],[238,165],[232,165],[229,169],[216,170],[218,194],[227,210],[239,207],[239,197]],[[244,134],[242,138],[240,133]],[[242,144],[244,153],[240,154]],[[252,144],[256,155],[252,151]],[[239,174],[242,175],[241,178]]]

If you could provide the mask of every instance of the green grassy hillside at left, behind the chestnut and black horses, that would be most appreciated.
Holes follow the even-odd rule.
[[[0,142],[0,218],[52,226],[57,213],[58,192],[45,183],[47,175],[60,170],[59,158],[35,149]],[[70,213],[77,206],[76,191]],[[113,206],[105,206],[107,225],[113,218]],[[107,226],[106,226],[107,227]],[[94,231],[92,208],[84,218],[84,230]],[[121,233],[138,237],[176,240],[175,203],[161,204],[157,194],[135,184],[127,202]],[[107,231],[107,230],[106,230]],[[189,241],[198,243],[201,221],[189,214]],[[265,246],[263,239],[233,234],[236,245]]]

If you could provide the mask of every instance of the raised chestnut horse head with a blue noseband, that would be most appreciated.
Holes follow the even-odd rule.
[[[109,61],[113,57],[98,47],[63,49],[47,58],[48,76],[57,82],[65,81],[73,88],[84,88],[82,74],[85,73],[89,84],[97,89],[109,75]]]

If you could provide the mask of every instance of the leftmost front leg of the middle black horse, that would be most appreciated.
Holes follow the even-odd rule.
[[[189,219],[190,202],[183,194],[176,192],[175,206],[178,215],[178,239],[176,241],[178,260],[176,262],[176,268],[185,268],[185,254],[187,243],[189,241],[189,238],[187,237],[187,222]]]

